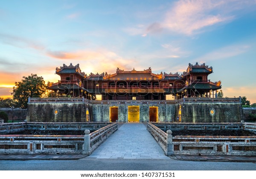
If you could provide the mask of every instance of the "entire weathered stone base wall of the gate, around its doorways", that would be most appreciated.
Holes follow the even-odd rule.
[[[149,120],[149,107],[158,107],[158,122],[176,121],[181,109],[181,122],[240,122],[243,120],[239,103],[183,102],[181,104],[86,104],[84,102],[29,103],[27,120],[32,122],[85,122],[86,109],[90,121],[108,122],[110,107],[118,107],[118,121],[128,122],[128,107],[140,107],[140,122]],[[212,111],[211,111],[212,110]],[[56,113],[57,114],[56,114]]]

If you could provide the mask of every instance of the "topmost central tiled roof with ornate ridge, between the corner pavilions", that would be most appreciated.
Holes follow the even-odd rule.
[[[160,80],[162,78],[157,77],[152,73],[136,72],[136,73],[116,73],[111,75],[108,80]]]

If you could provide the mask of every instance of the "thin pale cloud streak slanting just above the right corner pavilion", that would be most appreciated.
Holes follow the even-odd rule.
[[[221,60],[224,58],[234,57],[240,54],[247,52],[250,48],[248,45],[233,45],[233,46],[225,46],[221,49],[217,49],[213,52],[209,52],[206,55],[196,59],[195,61],[199,61],[200,63],[204,63],[207,61]]]

